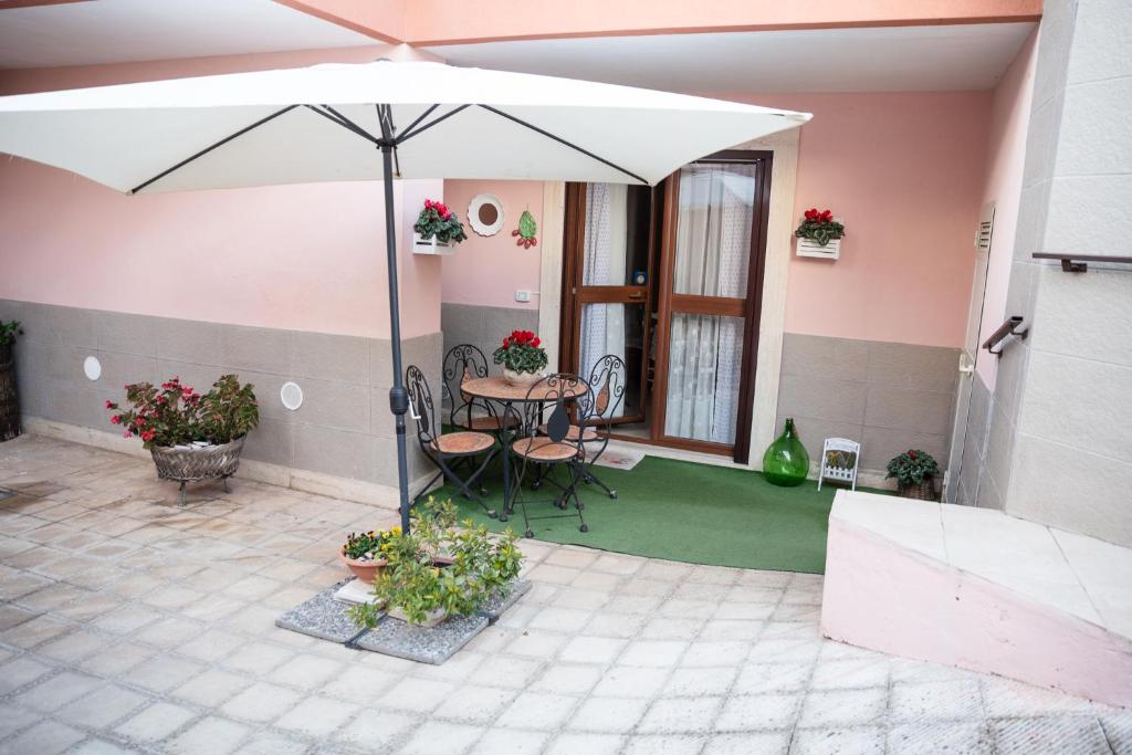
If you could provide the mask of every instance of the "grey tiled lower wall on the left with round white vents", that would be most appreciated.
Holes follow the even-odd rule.
[[[108,398],[122,386],[179,375],[198,389],[225,372],[256,386],[260,424],[248,438],[247,458],[292,469],[396,484],[396,449],[388,389],[389,341],[147,317],[0,299],[0,319],[18,319],[22,410],[32,417],[112,430]],[[404,363],[440,375],[441,335],[409,338]],[[91,381],[83,360],[97,357],[102,376]],[[289,411],[284,383],[303,389],[303,404]],[[428,462],[409,428],[410,478]]]

